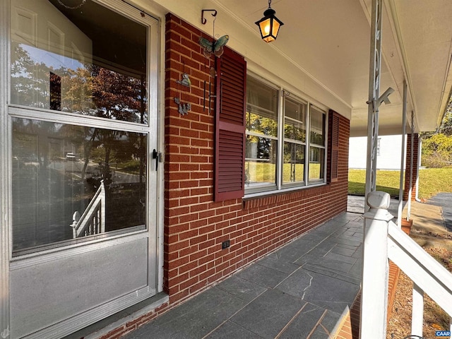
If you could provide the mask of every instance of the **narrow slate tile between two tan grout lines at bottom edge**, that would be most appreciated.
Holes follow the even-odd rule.
[[[326,309],[313,304],[306,304],[302,311],[281,333],[280,339],[307,338],[307,335],[316,327]]]

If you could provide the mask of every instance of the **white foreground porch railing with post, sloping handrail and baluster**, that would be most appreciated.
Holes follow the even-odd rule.
[[[359,338],[386,338],[388,309],[388,259],[413,281],[413,338],[422,337],[424,292],[452,316],[452,274],[427,254],[391,220],[389,194],[374,191],[367,196],[370,210],[364,214],[364,258],[362,272]],[[451,331],[452,326],[444,328]],[[417,337],[415,337],[417,336]],[[448,337],[449,338],[449,337]]]

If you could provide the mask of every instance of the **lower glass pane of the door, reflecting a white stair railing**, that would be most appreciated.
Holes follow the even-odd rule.
[[[100,191],[102,232],[144,227],[146,145],[141,133],[14,118],[13,251],[90,234],[71,224]]]

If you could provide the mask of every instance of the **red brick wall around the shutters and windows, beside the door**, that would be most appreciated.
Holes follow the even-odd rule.
[[[208,84],[214,60],[203,56],[200,35],[179,18],[167,16],[164,286],[172,304],[347,208],[350,124],[345,118],[340,119],[338,182],[290,194],[213,202],[214,112],[203,109],[203,82]],[[191,88],[176,83],[182,73],[189,74]],[[184,116],[174,103],[179,95],[191,103]],[[230,248],[222,250],[227,239]]]

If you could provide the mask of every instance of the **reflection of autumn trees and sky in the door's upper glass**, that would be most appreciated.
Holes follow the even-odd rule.
[[[13,104],[148,123],[144,75],[81,63],[18,42],[11,48]]]

